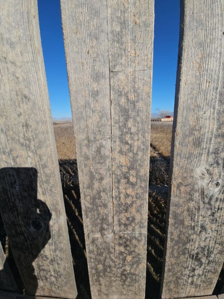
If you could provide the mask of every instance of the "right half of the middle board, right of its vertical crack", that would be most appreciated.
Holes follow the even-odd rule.
[[[154,0],[108,1],[117,285],[145,298]]]

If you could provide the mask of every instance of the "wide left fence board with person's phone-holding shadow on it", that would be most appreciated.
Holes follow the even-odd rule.
[[[31,295],[75,298],[36,0],[0,0],[0,208]]]

